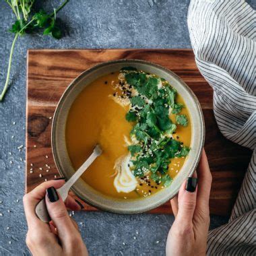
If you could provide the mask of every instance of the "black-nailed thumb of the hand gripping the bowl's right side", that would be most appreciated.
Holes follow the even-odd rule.
[[[177,221],[181,220],[183,224],[192,222],[196,200],[197,178],[189,177],[187,181],[183,183],[179,191]]]

